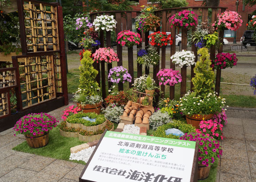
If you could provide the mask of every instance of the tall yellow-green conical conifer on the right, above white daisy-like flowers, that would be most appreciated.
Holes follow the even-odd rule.
[[[198,54],[201,54],[201,57],[194,68],[195,77],[192,78],[193,90],[196,96],[205,98],[208,93],[213,92],[214,71],[210,66],[211,60],[209,59],[208,49],[201,48],[198,50]]]

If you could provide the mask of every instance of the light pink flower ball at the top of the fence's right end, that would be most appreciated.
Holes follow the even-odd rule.
[[[216,30],[224,30],[224,28],[227,28],[235,31],[239,29],[243,23],[241,15],[235,11],[224,11],[220,15],[218,14],[217,18],[217,21],[213,23],[213,26],[216,26]]]

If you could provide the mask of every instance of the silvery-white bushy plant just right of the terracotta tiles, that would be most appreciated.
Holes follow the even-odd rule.
[[[153,127],[153,130],[169,122],[173,122],[171,116],[167,112],[161,112],[161,110],[154,112],[149,117],[149,125]]]

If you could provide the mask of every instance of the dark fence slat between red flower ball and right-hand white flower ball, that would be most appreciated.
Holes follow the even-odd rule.
[[[171,15],[176,14],[176,10],[171,10]],[[171,37],[172,39],[172,45],[171,45],[171,56],[175,54],[176,52],[176,27],[173,26],[171,28]],[[170,60],[170,68],[172,70],[175,70],[175,64],[172,63],[172,61]],[[170,99],[174,99],[175,97],[175,86],[170,86]]]

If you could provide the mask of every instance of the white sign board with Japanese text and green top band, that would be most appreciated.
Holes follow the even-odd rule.
[[[80,182],[191,182],[195,149],[192,141],[107,131]]]

